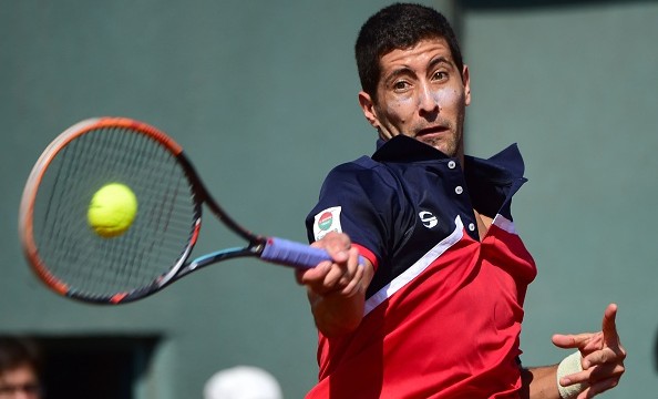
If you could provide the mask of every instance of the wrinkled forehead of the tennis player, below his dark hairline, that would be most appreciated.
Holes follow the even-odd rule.
[[[453,66],[455,65],[450,47],[443,38],[423,39],[411,48],[392,50],[383,54],[379,62],[383,78],[387,72],[399,68],[424,68],[439,58],[446,60]]]

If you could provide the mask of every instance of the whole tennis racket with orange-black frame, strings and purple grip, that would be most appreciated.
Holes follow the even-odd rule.
[[[109,183],[130,187],[138,204],[130,228],[114,237],[96,234],[88,222],[92,196]],[[204,205],[247,244],[189,259]],[[79,122],[45,149],[23,191],[19,235],[48,287],[95,304],[141,299],[236,257],[300,268],[330,259],[323,249],[241,227],[208,194],[174,140],[126,117]]]

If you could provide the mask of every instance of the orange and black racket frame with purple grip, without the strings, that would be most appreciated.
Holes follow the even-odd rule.
[[[73,140],[101,129],[127,129],[154,139],[175,157],[176,162],[182,167],[184,175],[189,183],[192,201],[194,204],[192,233],[175,265],[150,284],[132,290],[114,293],[112,295],[91,295],[86,291],[76,289],[75,287],[71,287],[65,282],[58,278],[49,270],[48,265],[39,255],[38,245],[33,236],[34,204],[39,186],[50,163],[55,158],[58,153]],[[201,232],[202,208],[204,204],[226,227],[228,227],[229,231],[245,239],[247,245],[244,247],[217,250],[188,262]],[[81,121],[63,131],[47,146],[34,164],[23,190],[19,209],[19,236],[24,256],[32,270],[43,283],[45,283],[47,286],[55,293],[72,299],[105,305],[125,304],[142,299],[163,289],[165,286],[168,286],[191,272],[226,259],[237,257],[260,257],[265,262],[304,268],[315,267],[318,263],[330,259],[329,255],[323,249],[313,248],[306,244],[289,242],[282,238],[256,235],[244,228],[235,222],[222,206],[219,206],[213,196],[210,196],[199,175],[192,165],[192,162],[184,154],[183,147],[178,143],[157,127],[133,119],[120,116],[92,117]],[[360,259],[360,263],[363,263],[362,258]]]

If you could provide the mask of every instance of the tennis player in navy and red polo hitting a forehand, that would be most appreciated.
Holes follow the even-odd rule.
[[[333,258],[297,272],[319,329],[308,398],[583,399],[617,386],[614,304],[600,331],[553,337],[570,348],[559,365],[521,361],[536,275],[511,209],[524,164],[515,145],[464,155],[470,72],[445,18],[389,6],[362,25],[356,58],[378,149],[333,168],[306,221]]]

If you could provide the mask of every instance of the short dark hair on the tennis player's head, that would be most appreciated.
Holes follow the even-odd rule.
[[[443,14],[414,3],[394,3],[381,9],[363,23],[354,45],[361,89],[372,96],[377,94],[383,55],[434,38],[445,39],[461,74],[464,63],[460,45]]]

